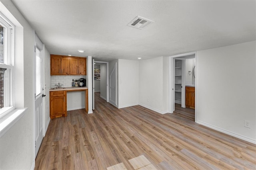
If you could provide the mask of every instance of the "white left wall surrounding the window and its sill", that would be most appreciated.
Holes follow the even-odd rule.
[[[16,29],[20,33],[18,37],[24,37],[24,40],[16,41],[16,47],[21,51],[16,55],[22,61],[16,60],[15,64],[19,64],[20,68],[24,64],[24,68],[15,70],[15,75],[20,78],[19,81],[15,82],[18,84],[15,92],[16,94],[21,93],[21,95],[15,97],[22,100],[16,106],[28,107],[28,109],[24,116],[0,138],[0,169],[30,169],[33,168],[35,159],[34,30],[10,0],[1,0],[1,2],[23,26],[23,33],[22,27]],[[1,7],[0,10],[2,12],[4,8]]]

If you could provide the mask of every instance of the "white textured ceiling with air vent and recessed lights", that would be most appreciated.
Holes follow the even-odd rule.
[[[137,60],[256,40],[255,0],[12,1],[51,54]],[[136,16],[155,23],[127,26]]]

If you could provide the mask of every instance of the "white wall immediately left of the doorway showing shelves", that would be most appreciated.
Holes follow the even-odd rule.
[[[139,104],[141,106],[158,113],[168,113],[168,72],[168,57],[139,62]]]

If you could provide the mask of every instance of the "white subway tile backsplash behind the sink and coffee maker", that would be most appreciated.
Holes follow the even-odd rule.
[[[54,88],[55,84],[58,83],[63,84],[63,87],[72,87],[72,80],[79,80],[80,78],[85,78],[87,80],[87,76],[51,76],[51,88]]]

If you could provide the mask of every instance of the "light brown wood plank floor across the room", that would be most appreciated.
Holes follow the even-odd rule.
[[[117,109],[99,93],[95,100],[93,114],[79,109],[50,121],[36,170],[134,170],[142,157],[140,170],[256,169],[256,145],[196,124],[193,109],[161,115]]]

